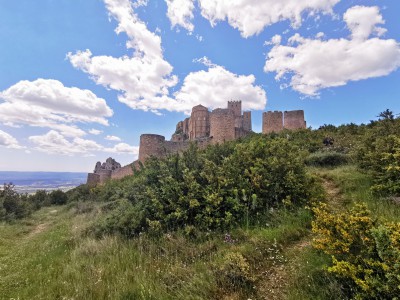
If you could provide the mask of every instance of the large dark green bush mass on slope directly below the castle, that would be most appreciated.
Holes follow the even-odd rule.
[[[255,224],[272,207],[295,207],[313,198],[317,185],[306,173],[304,157],[288,139],[254,135],[205,150],[193,144],[182,155],[149,159],[134,176],[96,188],[98,199],[118,204],[95,230],[193,234],[194,228]]]

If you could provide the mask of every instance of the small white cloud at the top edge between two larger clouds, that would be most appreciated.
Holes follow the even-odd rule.
[[[194,0],[165,0],[167,3],[167,16],[172,27],[181,26],[187,31],[192,32],[194,26],[193,19]]]

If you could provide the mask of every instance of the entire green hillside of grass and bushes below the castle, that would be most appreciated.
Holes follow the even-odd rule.
[[[0,294],[396,299],[400,120],[379,118],[192,145],[96,188],[7,184]]]

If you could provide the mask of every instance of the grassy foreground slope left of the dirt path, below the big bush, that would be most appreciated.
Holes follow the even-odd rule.
[[[95,239],[85,232],[100,210],[76,207],[84,213],[50,207],[24,221],[1,224],[0,298],[259,299],[255,287],[263,274],[284,263],[282,247],[308,234],[310,221],[306,210],[287,211],[266,228],[233,230],[232,242],[225,242],[223,233],[195,240],[180,233]],[[249,265],[250,287],[224,280],[229,272],[241,272],[227,260],[230,253],[239,253]]]

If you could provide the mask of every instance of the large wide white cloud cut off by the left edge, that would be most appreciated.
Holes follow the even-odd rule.
[[[52,79],[22,80],[0,92],[3,124],[49,127],[69,136],[82,136],[75,123],[108,125],[113,111],[89,90],[65,87]]]

